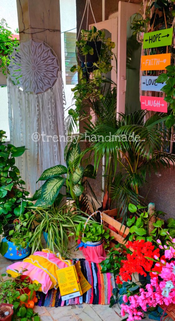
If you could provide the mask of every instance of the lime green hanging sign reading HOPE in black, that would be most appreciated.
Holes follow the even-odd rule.
[[[144,33],[143,48],[170,46],[173,28]]]

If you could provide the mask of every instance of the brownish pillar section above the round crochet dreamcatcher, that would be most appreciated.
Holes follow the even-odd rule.
[[[61,70],[59,0],[16,0],[16,4],[20,40],[32,38],[46,42],[55,51]]]

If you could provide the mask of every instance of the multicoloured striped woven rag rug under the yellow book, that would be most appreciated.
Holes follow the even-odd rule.
[[[80,259],[82,273],[92,288],[82,296],[62,301],[59,289],[49,290],[47,294],[38,292],[39,307],[62,307],[64,305],[74,305],[81,303],[90,304],[109,304],[112,289],[115,288],[113,273],[101,273],[101,265]],[[76,263],[77,261],[74,261]]]

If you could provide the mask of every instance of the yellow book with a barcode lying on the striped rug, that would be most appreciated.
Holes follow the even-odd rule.
[[[80,262],[57,270],[56,274],[63,301],[79,297],[92,287],[81,271]]]

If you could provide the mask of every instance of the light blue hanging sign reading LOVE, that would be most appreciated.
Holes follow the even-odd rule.
[[[141,90],[144,91],[161,91],[166,82],[155,82],[158,76],[142,76]]]

